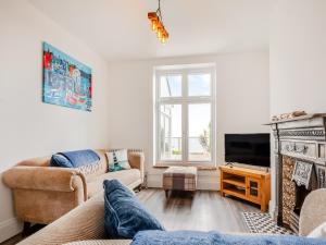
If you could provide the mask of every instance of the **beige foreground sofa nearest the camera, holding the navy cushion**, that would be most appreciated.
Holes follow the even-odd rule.
[[[314,191],[305,198],[299,222],[300,235],[306,236],[316,226],[326,222],[324,204],[326,204],[326,188]],[[72,243],[71,245],[128,245],[130,241],[105,240],[103,195],[97,195],[18,245],[65,243]]]

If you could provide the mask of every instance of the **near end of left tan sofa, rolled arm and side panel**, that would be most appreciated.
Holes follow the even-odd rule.
[[[17,166],[3,174],[13,189],[16,216],[30,223],[50,223],[87,199],[85,176],[75,170]]]

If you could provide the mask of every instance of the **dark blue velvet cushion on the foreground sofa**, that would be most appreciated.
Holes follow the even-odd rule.
[[[137,197],[117,180],[104,181],[104,226],[111,238],[133,238],[138,231],[161,230]]]

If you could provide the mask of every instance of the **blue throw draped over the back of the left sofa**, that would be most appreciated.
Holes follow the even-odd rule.
[[[60,152],[60,155],[66,157],[73,168],[80,168],[83,166],[97,163],[100,160],[100,157],[90,149]]]

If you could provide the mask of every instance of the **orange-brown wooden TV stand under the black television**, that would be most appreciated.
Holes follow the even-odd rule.
[[[271,173],[241,167],[221,166],[221,195],[235,196],[267,211],[271,199]]]

